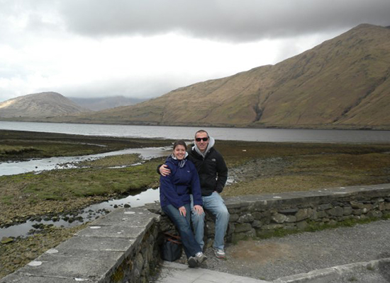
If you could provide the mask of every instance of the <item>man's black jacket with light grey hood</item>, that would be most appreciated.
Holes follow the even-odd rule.
[[[214,191],[222,192],[228,180],[228,168],[222,155],[213,148],[215,140],[210,137],[206,151],[202,153],[196,144],[189,151],[189,160],[196,167],[201,181],[202,196],[211,195]]]

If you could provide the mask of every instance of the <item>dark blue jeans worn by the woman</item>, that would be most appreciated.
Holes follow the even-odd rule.
[[[182,238],[182,243],[184,246],[184,252],[186,253],[187,258],[196,255],[196,253],[201,251],[199,243],[196,242],[194,238],[194,233],[191,230],[191,206],[190,204],[185,204],[186,216],[182,216],[179,212],[179,209],[174,207],[171,204],[162,207],[162,211],[169,216],[169,218],[179,230],[180,237]]]

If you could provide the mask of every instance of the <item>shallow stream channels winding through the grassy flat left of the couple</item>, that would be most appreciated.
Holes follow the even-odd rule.
[[[67,169],[74,168],[74,163],[85,160],[96,160],[105,156],[114,156],[122,154],[140,154],[143,160],[150,158],[167,156],[169,148],[165,147],[150,147],[143,149],[124,149],[121,151],[111,151],[104,154],[94,154],[89,156],[66,156],[66,157],[52,157],[43,159],[33,159],[30,161],[20,162],[5,162],[0,163],[0,175],[16,175],[27,172],[53,170],[53,169]],[[137,164],[133,164],[136,166]],[[30,236],[44,225],[53,225],[57,227],[72,227],[83,224],[85,221],[93,221],[100,216],[111,212],[116,207],[140,207],[146,203],[155,202],[159,200],[160,192],[158,189],[149,188],[136,195],[128,195],[121,199],[108,200],[99,204],[91,204],[79,212],[72,212],[71,214],[62,214],[61,216],[40,216],[28,221],[15,224],[8,227],[0,228],[0,239],[3,237],[26,237]]]

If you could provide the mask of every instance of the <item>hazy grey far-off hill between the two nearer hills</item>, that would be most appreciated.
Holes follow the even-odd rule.
[[[93,111],[99,111],[119,106],[128,106],[145,101],[145,99],[126,98],[124,96],[111,96],[103,98],[75,98],[68,97],[74,103]]]

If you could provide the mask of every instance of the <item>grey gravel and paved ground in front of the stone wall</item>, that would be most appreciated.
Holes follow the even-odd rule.
[[[264,246],[271,250],[264,250]],[[225,261],[208,255],[210,270],[164,262],[155,283],[390,282],[390,220],[243,241],[226,251],[230,258]],[[224,273],[228,270],[235,275]]]

